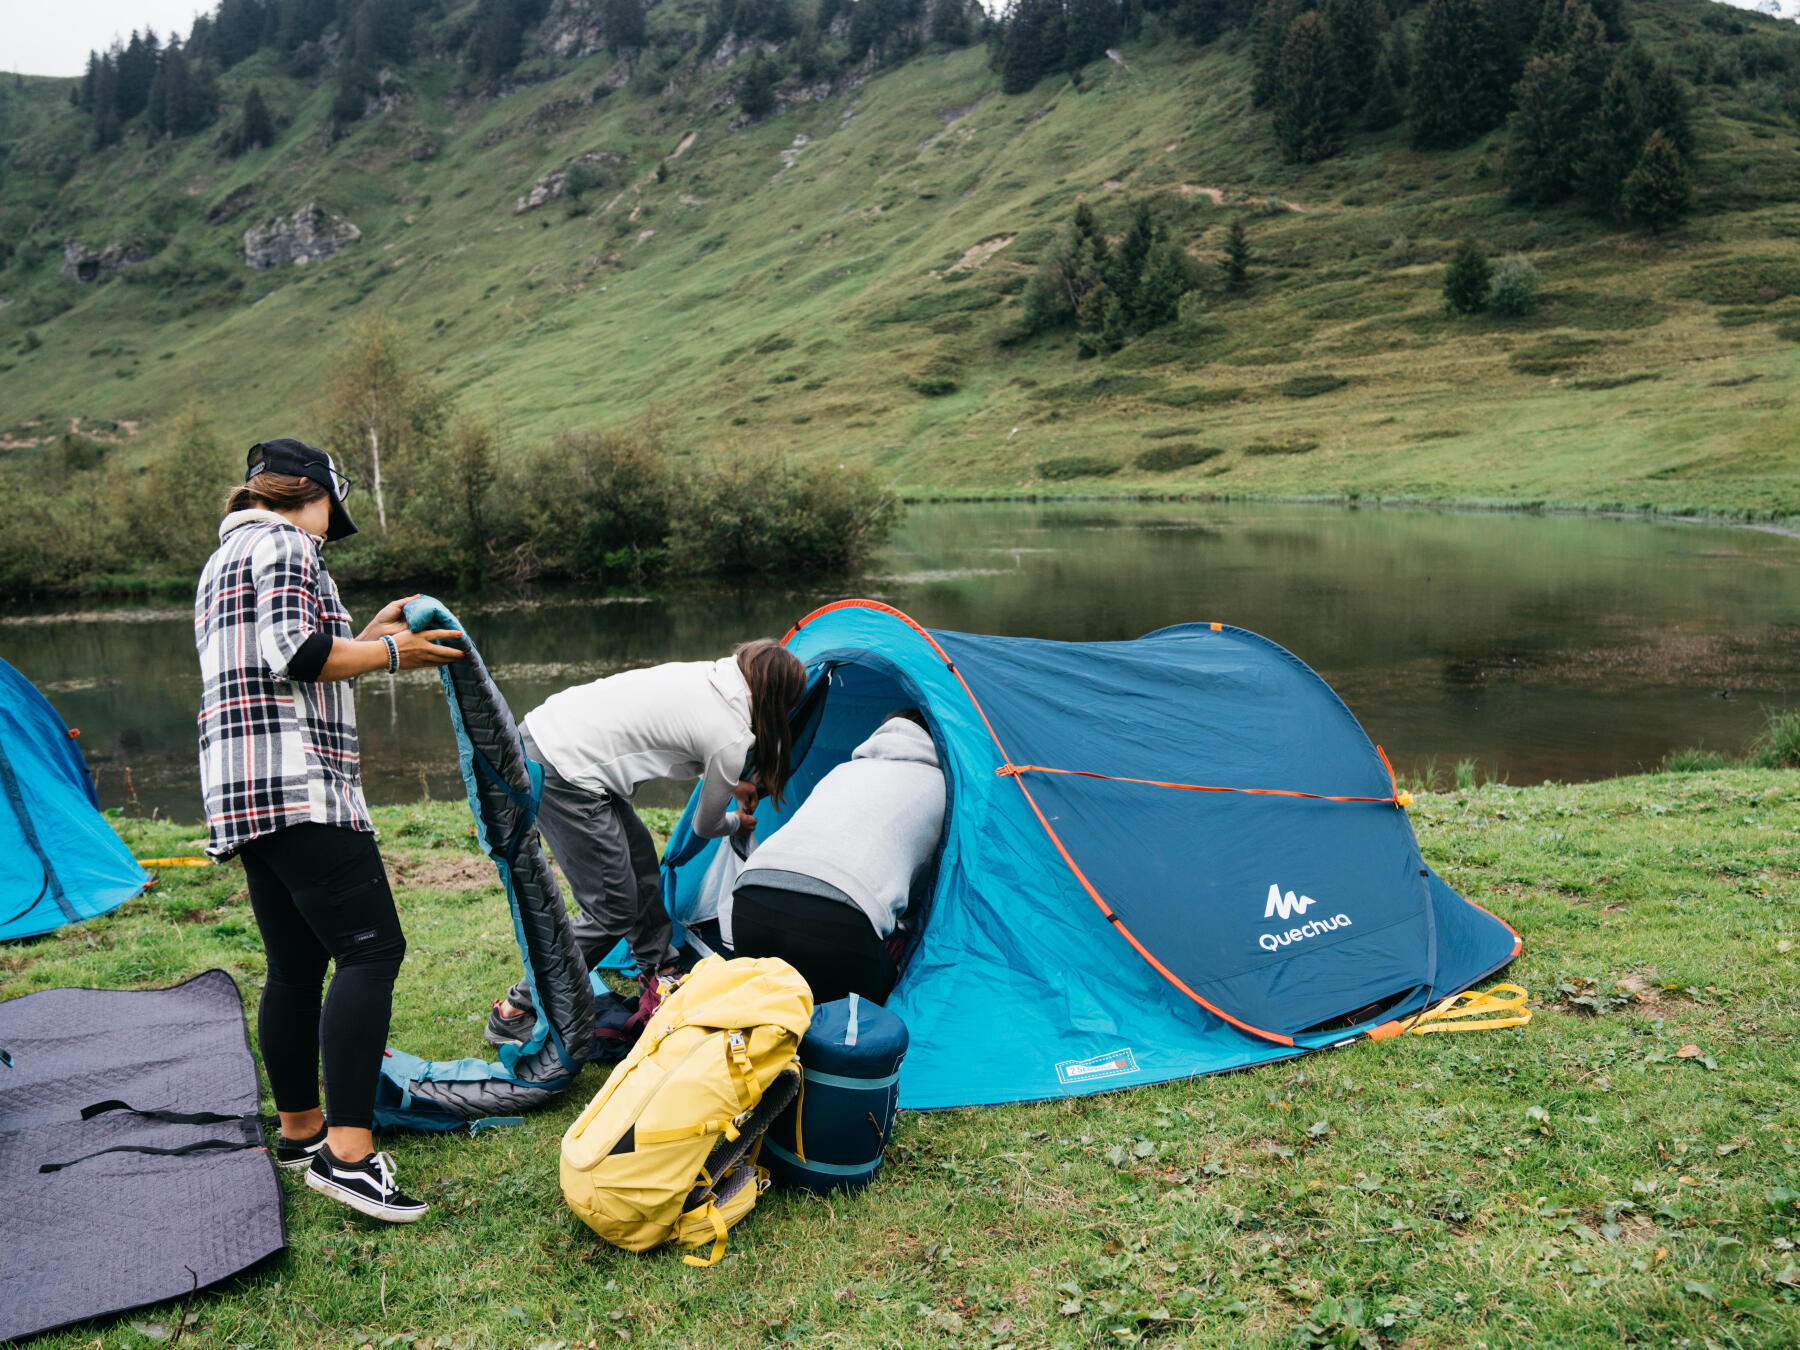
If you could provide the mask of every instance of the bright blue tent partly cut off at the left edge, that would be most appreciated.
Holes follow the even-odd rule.
[[[0,661],[0,940],[104,914],[148,882],[99,812],[74,733]]]

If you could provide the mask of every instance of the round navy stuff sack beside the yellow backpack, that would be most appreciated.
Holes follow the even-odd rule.
[[[905,1022],[855,994],[814,1010],[799,1042],[799,1098],[763,1136],[774,1181],[814,1195],[875,1181],[900,1105],[905,1044]]]

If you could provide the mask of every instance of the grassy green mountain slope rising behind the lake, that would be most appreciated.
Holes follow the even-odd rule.
[[[653,22],[697,22],[677,5]],[[1633,20],[1679,68],[1715,41],[1712,9],[1642,0]],[[9,90],[4,191],[34,216],[22,229],[13,209],[7,229],[27,252],[171,239],[92,286],[56,277],[59,256],[0,272],[11,454],[76,416],[153,430],[189,398],[234,439],[304,430],[333,335],[380,310],[518,437],[653,414],[679,446],[871,461],[907,491],[1042,490],[1046,461],[1096,455],[1123,472],[1073,486],[1800,513],[1800,139],[1753,81],[1697,90],[1701,214],[1652,238],[1512,205],[1505,133],[1444,155],[1357,137],[1282,166],[1235,34],[1132,45],[1017,97],[981,50],[925,54],[747,128],[729,70],[592,101],[608,65],[459,99],[455,67],[419,63],[396,108],[328,144],[329,83],[290,81],[263,52],[225,95],[263,88],[288,122],[274,149],[230,160],[207,135],[139,135],[74,158],[61,187],[32,173],[79,146],[67,81]],[[515,212],[590,151],[623,157],[614,184]],[[1220,286],[1210,322],[1102,360],[1076,362],[1067,335],[1008,342],[1024,274],[1073,205],[1121,229],[1139,194],[1206,259],[1246,214],[1249,290]],[[247,225],[313,200],[362,241],[265,274],[236,257]],[[1528,252],[1543,311],[1444,317],[1460,234]],[[47,317],[58,295],[74,304]],[[1296,396],[1330,383],[1289,383],[1316,374],[1346,383]],[[1168,439],[1224,454],[1130,464]]]

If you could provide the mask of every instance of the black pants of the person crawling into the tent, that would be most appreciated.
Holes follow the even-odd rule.
[[[812,986],[814,1004],[860,994],[887,1003],[895,963],[869,916],[848,900],[743,886],[731,902],[731,950],[779,956]]]

